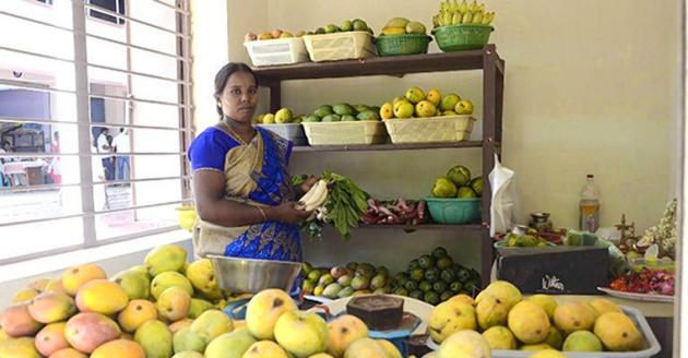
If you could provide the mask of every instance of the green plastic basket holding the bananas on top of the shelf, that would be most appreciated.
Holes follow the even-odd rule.
[[[452,52],[483,48],[494,29],[489,25],[462,24],[437,27],[432,29],[432,35],[442,51]]]

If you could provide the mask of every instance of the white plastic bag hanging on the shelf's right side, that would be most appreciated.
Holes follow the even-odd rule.
[[[517,223],[518,203],[515,172],[502,166],[497,154],[495,168],[489,174],[489,186],[493,189],[489,235],[495,237],[497,232],[507,232]]]

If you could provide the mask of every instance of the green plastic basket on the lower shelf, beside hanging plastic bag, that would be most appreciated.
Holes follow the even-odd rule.
[[[481,218],[481,198],[432,198],[425,201],[432,220],[439,224],[470,224]]]

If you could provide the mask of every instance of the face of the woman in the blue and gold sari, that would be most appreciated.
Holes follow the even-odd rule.
[[[250,123],[258,105],[258,86],[253,75],[244,71],[233,73],[218,102],[225,116],[240,123]]]

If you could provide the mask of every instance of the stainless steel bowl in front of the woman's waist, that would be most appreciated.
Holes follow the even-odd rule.
[[[292,289],[300,262],[226,258],[209,254],[217,285],[232,293],[256,294],[266,288]]]

